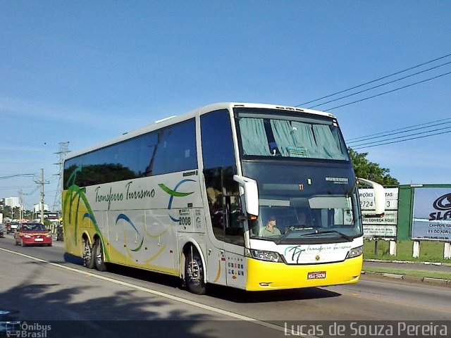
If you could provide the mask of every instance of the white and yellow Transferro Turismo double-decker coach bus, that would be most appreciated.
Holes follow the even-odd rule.
[[[175,275],[197,294],[360,277],[357,182],[330,113],[205,106],[70,153],[63,181],[66,252],[87,268]]]

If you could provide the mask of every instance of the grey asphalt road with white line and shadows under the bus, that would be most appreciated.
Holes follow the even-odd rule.
[[[27,323],[51,321],[47,337],[332,337],[336,325],[349,331],[354,321],[369,330],[399,325],[393,320],[451,320],[451,289],[433,285],[362,276],[347,286],[268,293],[212,286],[197,296],[173,277],[118,266],[98,273],[78,263],[65,260],[61,242],[22,248],[0,239],[0,310]]]

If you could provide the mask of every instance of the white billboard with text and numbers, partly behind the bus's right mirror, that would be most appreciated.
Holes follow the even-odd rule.
[[[383,217],[365,217],[375,213],[373,189],[359,188],[360,208],[364,216],[364,238],[396,238],[398,188],[385,188]]]

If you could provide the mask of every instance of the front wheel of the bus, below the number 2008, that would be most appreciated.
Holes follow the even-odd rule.
[[[185,283],[193,294],[205,294],[204,263],[194,246],[190,246],[185,257]]]

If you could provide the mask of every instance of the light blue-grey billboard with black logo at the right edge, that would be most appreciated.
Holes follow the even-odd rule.
[[[412,239],[451,241],[451,188],[415,188]]]

